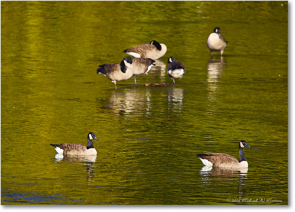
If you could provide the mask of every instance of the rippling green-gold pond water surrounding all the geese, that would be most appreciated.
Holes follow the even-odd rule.
[[[96,74],[152,40],[168,50],[139,86]],[[170,56],[183,78],[144,86],[172,83]],[[49,145],[89,132],[94,157]],[[246,173],[202,169],[240,140]],[[1,1],[1,204],[288,204],[288,2]]]

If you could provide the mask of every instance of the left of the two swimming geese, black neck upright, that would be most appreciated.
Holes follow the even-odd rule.
[[[98,140],[94,133],[88,133],[87,146],[79,143],[51,144],[59,154],[63,155],[97,155],[92,140]]]

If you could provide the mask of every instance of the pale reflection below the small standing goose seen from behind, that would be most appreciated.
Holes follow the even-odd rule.
[[[183,92],[184,90],[182,88],[172,88],[168,89],[168,105],[170,110],[175,112],[180,112],[183,108]]]

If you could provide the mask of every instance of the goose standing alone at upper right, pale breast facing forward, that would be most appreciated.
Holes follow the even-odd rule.
[[[216,27],[207,39],[207,46],[211,51],[211,56],[213,56],[213,51],[220,51],[222,55],[223,50],[226,48],[226,43],[228,42],[220,34],[220,28]]]

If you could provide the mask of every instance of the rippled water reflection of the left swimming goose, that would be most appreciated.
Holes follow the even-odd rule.
[[[96,157],[97,155],[68,156],[68,155],[57,153],[55,155],[55,161],[77,163],[83,166],[86,165],[86,173],[87,173],[86,178],[88,179],[88,181],[92,181],[92,178],[95,175],[94,170],[97,169],[97,167],[93,164],[96,162]]]

